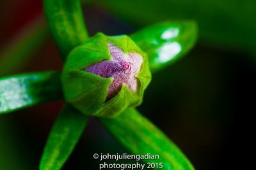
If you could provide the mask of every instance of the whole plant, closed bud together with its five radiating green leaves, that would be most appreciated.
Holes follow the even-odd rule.
[[[150,71],[172,64],[195,44],[195,22],[162,22],[129,36],[98,33],[90,38],[78,0],[45,0],[44,10],[65,63],[63,71],[0,79],[1,115],[40,103],[67,101],[49,134],[39,169],[61,169],[93,116],[131,153],[159,155],[161,169],[194,169],[135,107],[142,103]]]

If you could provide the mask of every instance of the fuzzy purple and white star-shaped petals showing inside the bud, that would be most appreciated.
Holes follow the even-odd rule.
[[[113,78],[108,89],[107,99],[115,96],[122,89],[123,83],[136,92],[138,80],[135,77],[140,72],[143,58],[138,53],[130,52],[125,54],[120,48],[108,43],[111,60],[103,60],[86,68],[86,71],[97,74],[104,78]]]

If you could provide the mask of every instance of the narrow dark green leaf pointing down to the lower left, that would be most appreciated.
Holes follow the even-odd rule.
[[[59,170],[81,137],[89,117],[66,104],[52,127],[44,148],[40,170]]]

